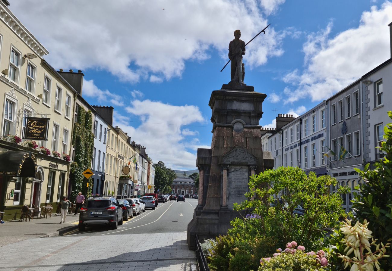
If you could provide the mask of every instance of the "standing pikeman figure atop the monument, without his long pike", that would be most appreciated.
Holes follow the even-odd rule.
[[[245,54],[245,42],[240,40],[241,31],[234,31],[234,40],[229,43],[229,59],[231,59],[230,83],[243,83],[245,77],[242,56]]]

